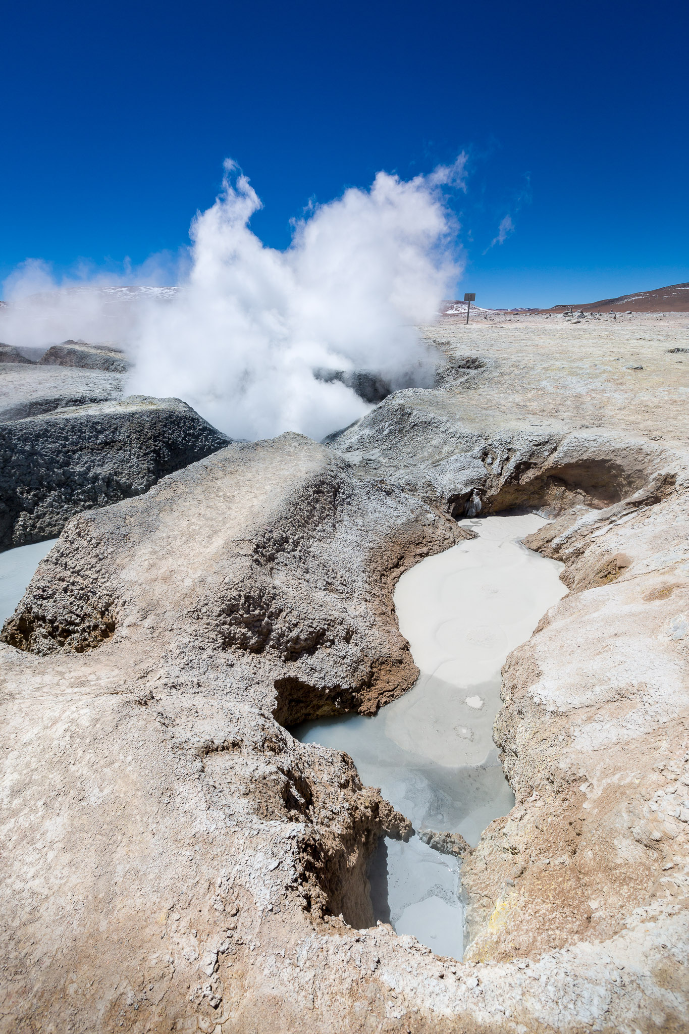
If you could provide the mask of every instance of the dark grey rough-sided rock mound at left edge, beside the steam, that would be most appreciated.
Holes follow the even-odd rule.
[[[227,442],[186,403],[145,396],[2,423],[0,548],[53,538]]]

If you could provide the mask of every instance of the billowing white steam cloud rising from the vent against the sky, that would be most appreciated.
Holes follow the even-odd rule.
[[[103,307],[107,293],[63,287],[43,295],[42,331],[35,304],[26,329],[25,300],[25,329],[15,326],[10,343],[36,343],[58,327],[63,337],[119,339],[135,360],[132,393],[183,398],[232,437],[295,430],[320,438],[369,406],[314,369],[373,369],[393,385],[415,371],[422,382],[428,353],[415,325],[435,317],[461,271],[447,188],[463,187],[463,170],[461,155],[409,181],[378,173],[369,190],[312,208],[278,251],[249,229],[261,203],[227,161],[221,193],[192,222],[181,290],[165,304],[114,312]],[[35,280],[44,270],[15,278],[14,297],[29,272]]]

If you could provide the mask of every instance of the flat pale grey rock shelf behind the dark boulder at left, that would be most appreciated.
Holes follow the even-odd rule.
[[[104,370],[0,363],[0,422],[122,398],[124,379]]]

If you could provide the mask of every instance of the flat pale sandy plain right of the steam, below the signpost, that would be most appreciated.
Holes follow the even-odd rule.
[[[555,429],[607,427],[669,446],[689,443],[689,313],[582,317],[443,317],[422,329],[443,351],[478,355],[490,368],[472,407],[531,418]],[[630,367],[643,369],[630,369]]]

